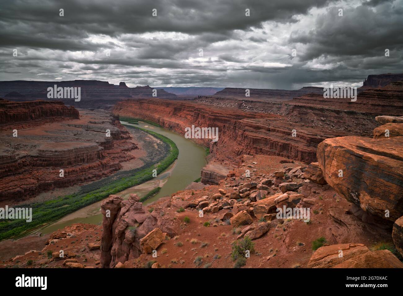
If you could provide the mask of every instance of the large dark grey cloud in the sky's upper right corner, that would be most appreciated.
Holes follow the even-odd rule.
[[[345,8],[343,16],[339,16],[339,7],[331,7],[318,16],[315,28],[292,32],[290,42],[307,45],[300,56],[302,61],[320,56],[337,56],[340,60],[345,56],[384,57],[385,49],[401,56],[402,28],[403,8],[395,9],[390,1],[382,2],[376,10],[368,6]]]

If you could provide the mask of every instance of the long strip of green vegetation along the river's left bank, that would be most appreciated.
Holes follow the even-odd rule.
[[[140,120],[144,121],[143,119]],[[131,119],[131,121],[133,121],[133,119]],[[34,228],[39,228],[45,224],[56,221],[67,214],[79,210],[80,208],[106,198],[110,194],[115,194],[129,187],[149,181],[153,178],[152,171],[154,169],[157,170],[158,175],[178,158],[178,147],[169,138],[140,127],[134,127],[131,125],[130,127],[141,129],[142,131],[162,140],[165,144],[168,144],[170,146],[168,154],[159,163],[145,164],[137,169],[120,173],[118,172],[102,180],[82,186],[80,191],[76,193],[61,196],[49,201],[19,205],[19,208],[32,208],[32,221],[28,223],[22,219],[3,220],[0,222],[0,240],[23,236]]]

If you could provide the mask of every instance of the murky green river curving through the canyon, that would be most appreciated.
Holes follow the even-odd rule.
[[[139,197],[143,197],[152,189],[162,187],[158,194],[144,202],[144,204],[148,204],[161,197],[185,189],[187,185],[200,177],[200,171],[206,165],[206,160],[204,159],[205,150],[202,146],[199,146],[191,140],[162,127],[150,125],[141,121],[139,121],[138,125],[133,125],[126,121],[120,122],[127,125],[141,127],[170,138],[177,145],[179,156],[174,163],[154,179],[127,188],[116,193],[116,195],[127,198],[131,193],[136,193]],[[102,201],[98,201],[92,205],[81,208],[39,231],[44,234],[50,233],[73,223],[100,224],[102,222],[102,214],[100,214],[101,202]]]

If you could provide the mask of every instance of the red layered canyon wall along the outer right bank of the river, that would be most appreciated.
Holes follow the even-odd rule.
[[[343,131],[324,131],[306,127],[303,123],[289,123],[279,115],[216,109],[189,101],[125,100],[116,104],[113,112],[154,121],[181,135],[185,135],[185,128],[192,125],[218,127],[217,142],[212,139],[191,140],[209,147],[210,153],[224,165],[236,163],[237,156],[242,154],[276,155],[312,162],[316,160],[316,147],[320,142],[347,135]]]

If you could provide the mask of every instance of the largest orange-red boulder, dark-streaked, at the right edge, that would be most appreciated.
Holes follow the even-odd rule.
[[[317,155],[324,178],[339,195],[393,222],[403,215],[402,136],[326,139]]]

